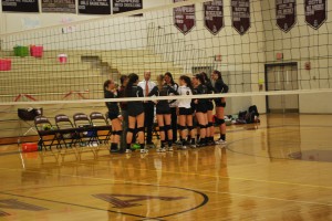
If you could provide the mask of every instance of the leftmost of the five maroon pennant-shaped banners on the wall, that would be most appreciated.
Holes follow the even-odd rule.
[[[174,0],[174,2],[184,0]],[[181,33],[187,34],[195,27],[195,4],[175,8],[173,15],[174,24]]]

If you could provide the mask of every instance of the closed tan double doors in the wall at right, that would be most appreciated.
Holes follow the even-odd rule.
[[[266,64],[264,71],[268,92],[299,88],[298,63]],[[267,96],[267,113],[299,113],[299,95]]]

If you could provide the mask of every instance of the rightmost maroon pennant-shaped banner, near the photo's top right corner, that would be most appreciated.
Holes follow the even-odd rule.
[[[326,0],[304,0],[305,22],[319,29],[328,19]]]

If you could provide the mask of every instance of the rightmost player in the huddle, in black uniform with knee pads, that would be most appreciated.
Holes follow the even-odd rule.
[[[219,71],[212,72],[212,80],[215,84],[215,92],[216,93],[228,93],[228,86],[225,84],[221,77],[221,73]],[[226,98],[220,97],[215,99],[216,103],[216,115],[217,119],[216,123],[220,129],[220,138],[216,141],[219,145],[226,145],[226,124],[225,124],[225,107],[226,107]]]

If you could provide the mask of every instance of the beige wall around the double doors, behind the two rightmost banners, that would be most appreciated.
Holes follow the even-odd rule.
[[[298,62],[300,88],[331,88],[332,86],[332,4],[328,3],[328,20],[318,30],[307,25],[303,1],[297,1],[297,20],[287,33],[281,31],[276,21],[274,0],[261,1],[266,39],[266,62],[278,63],[277,53],[283,53],[282,62]],[[272,21],[272,22],[271,22]],[[281,62],[281,61],[279,61]],[[304,64],[311,62],[311,70]],[[330,81],[328,76],[330,75]],[[331,114],[332,93],[299,95],[300,113]]]

